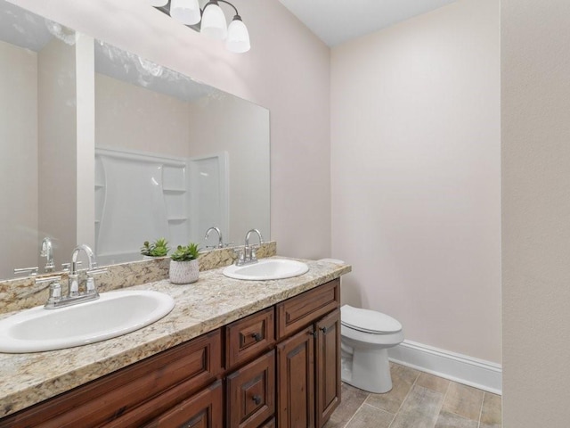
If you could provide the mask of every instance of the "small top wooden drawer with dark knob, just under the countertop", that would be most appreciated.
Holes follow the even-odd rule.
[[[226,368],[255,358],[275,343],[273,308],[264,309],[225,327]]]

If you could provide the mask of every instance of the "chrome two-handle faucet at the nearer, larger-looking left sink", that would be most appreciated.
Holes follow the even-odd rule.
[[[79,274],[77,266],[81,264],[77,261],[79,252],[85,251],[88,258],[89,268],[87,269],[87,279],[85,281],[85,292],[79,292]],[[71,254],[71,271],[69,272],[69,291],[67,296],[61,295],[61,276],[50,276],[47,278],[37,279],[37,283],[50,283],[50,297],[45,303],[45,309],[64,308],[66,306],[75,305],[88,300],[99,299],[99,293],[95,286],[94,275],[107,272],[107,269],[98,269],[95,261],[94,252],[89,246],[84,244],[78,245]]]

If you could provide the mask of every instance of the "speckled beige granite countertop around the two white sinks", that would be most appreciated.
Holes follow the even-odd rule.
[[[346,264],[301,261],[305,261],[309,271],[289,279],[240,281],[225,277],[223,268],[216,268],[200,272],[194,284],[175,285],[166,279],[129,287],[165,292],[175,299],[175,308],[152,325],[104,342],[66,350],[0,353],[0,417],[268,308],[351,270]]]

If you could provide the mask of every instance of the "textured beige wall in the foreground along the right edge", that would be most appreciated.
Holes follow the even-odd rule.
[[[501,1],[503,421],[570,420],[570,3]]]

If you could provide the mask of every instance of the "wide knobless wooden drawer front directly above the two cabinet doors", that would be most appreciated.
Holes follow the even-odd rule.
[[[277,338],[282,339],[291,333],[313,323],[316,319],[337,309],[340,305],[340,280],[299,294],[277,305]]]

